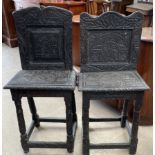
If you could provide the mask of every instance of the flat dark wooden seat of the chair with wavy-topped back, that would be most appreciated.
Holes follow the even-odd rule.
[[[79,74],[80,91],[141,91],[149,87],[136,71],[85,72]]]

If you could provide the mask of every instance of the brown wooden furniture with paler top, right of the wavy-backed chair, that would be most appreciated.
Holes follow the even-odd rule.
[[[144,93],[144,104],[140,112],[140,124],[153,124],[153,28],[144,27],[141,36],[137,69],[150,89]],[[130,114],[131,117],[131,114]]]

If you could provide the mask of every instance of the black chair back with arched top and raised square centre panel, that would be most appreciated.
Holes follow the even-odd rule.
[[[13,16],[23,69],[72,69],[71,12],[32,7]]]

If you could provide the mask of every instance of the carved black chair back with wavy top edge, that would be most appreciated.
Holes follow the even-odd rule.
[[[136,69],[143,15],[106,12],[80,16],[81,71]]]

